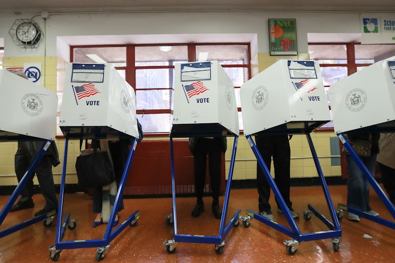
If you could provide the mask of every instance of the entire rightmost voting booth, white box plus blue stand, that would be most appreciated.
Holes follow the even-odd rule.
[[[330,86],[328,95],[335,133],[395,219],[394,205],[344,134],[395,132],[395,61],[376,62],[339,80]],[[394,221],[371,216],[344,204],[338,204],[338,207],[359,217],[395,228]]]

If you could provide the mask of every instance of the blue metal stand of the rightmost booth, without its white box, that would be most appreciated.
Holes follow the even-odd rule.
[[[362,162],[362,160],[359,158],[358,154],[356,154],[356,151],[354,148],[351,146],[350,142],[347,140],[347,138],[344,136],[342,133],[338,133],[337,136],[339,137],[340,141],[342,142],[343,146],[348,150],[350,153],[351,157],[354,159],[356,164],[358,165],[359,169],[362,171],[363,175],[366,177],[366,179],[369,181],[370,185],[372,188],[375,190],[381,201],[384,203],[384,205],[387,207],[388,211],[392,215],[392,217],[395,219],[395,207],[388,199],[387,195],[384,193],[383,189],[379,186],[377,181],[374,179],[374,176],[370,173],[370,171],[366,168],[365,164]],[[371,220],[373,222],[376,222],[381,225],[388,226],[390,228],[395,229],[395,223],[392,221],[388,221],[386,219],[380,218],[380,217],[375,217],[371,216],[363,211],[360,211],[358,209],[349,207],[344,204],[338,204],[338,208],[343,210],[343,211],[348,211],[353,214],[356,214],[359,217],[366,218],[368,220]]]

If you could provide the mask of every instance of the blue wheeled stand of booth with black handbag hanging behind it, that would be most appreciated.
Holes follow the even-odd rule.
[[[74,229],[77,226],[76,219],[70,219],[70,214],[66,214],[65,220],[62,223],[62,211],[63,211],[63,198],[64,198],[64,187],[66,182],[66,165],[63,165],[62,171],[62,179],[61,179],[61,187],[59,194],[59,210],[58,210],[58,221],[57,221],[57,229],[56,229],[56,240],[55,245],[49,247],[50,258],[52,261],[57,261],[60,257],[60,252],[63,249],[75,249],[75,248],[89,248],[89,247],[98,247],[96,250],[96,261],[101,261],[108,252],[110,248],[110,242],[128,225],[134,226],[137,225],[137,220],[140,218],[139,210],[135,211],[132,215],[130,215],[124,222],[122,222],[118,227],[113,229],[115,217],[117,215],[118,206],[119,206],[119,198],[123,193],[123,189],[126,183],[127,175],[129,173],[130,163],[133,159],[134,151],[136,149],[137,139],[133,141],[132,147],[130,149],[125,168],[123,169],[122,178],[119,184],[117,196],[115,198],[113,210],[111,211],[110,219],[107,224],[106,232],[104,234],[103,239],[90,239],[83,241],[62,241],[64,232],[66,230],[66,226],[69,229]],[[65,153],[63,163],[67,163],[67,149],[68,149],[68,139],[65,140]]]

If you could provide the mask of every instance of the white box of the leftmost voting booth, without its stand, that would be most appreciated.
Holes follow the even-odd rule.
[[[58,96],[28,79],[0,70],[0,140],[53,140]]]

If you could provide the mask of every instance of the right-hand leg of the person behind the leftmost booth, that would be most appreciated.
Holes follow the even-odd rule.
[[[44,155],[40,164],[36,168],[37,179],[39,180],[41,193],[45,198],[45,205],[41,214],[52,209],[58,209],[58,199],[56,198],[55,184],[53,182],[51,156]],[[38,214],[37,212],[36,214]],[[37,216],[35,214],[35,216]]]

